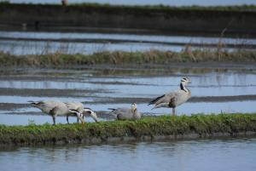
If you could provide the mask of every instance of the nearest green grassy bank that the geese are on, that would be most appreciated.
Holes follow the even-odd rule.
[[[29,126],[0,125],[0,145],[55,144],[59,141],[108,140],[111,137],[135,137],[158,135],[199,134],[211,136],[216,133],[236,135],[247,131],[256,132],[256,113],[193,115],[191,117],[143,117],[139,121],[112,121],[86,123],[84,125],[49,123]]]

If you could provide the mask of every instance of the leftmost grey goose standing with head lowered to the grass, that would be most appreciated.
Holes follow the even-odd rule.
[[[84,123],[83,114],[79,111],[69,110],[67,105],[61,101],[54,100],[43,100],[43,101],[28,101],[34,107],[37,107],[44,113],[50,115],[53,119],[53,124],[55,125],[56,116],[69,116],[75,114],[81,123]],[[68,120],[67,120],[68,123]]]

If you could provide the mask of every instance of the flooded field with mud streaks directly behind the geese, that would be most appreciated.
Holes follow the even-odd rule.
[[[256,111],[254,65],[173,64],[171,66],[94,66],[76,69],[2,69],[0,72],[0,124],[52,123],[52,118],[30,106],[29,100],[78,100],[95,110],[102,120],[112,119],[108,108],[137,103],[143,115],[170,114],[151,110],[148,102],[179,88],[180,79],[191,80],[192,98],[177,107],[177,115]],[[15,119],[13,119],[15,118]],[[57,117],[57,123],[66,123]],[[75,118],[71,119],[76,122]],[[87,118],[87,121],[92,121]]]

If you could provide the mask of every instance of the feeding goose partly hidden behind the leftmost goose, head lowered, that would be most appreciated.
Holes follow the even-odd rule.
[[[98,122],[98,117],[96,115],[95,111],[92,111],[90,108],[84,108],[84,105],[81,102],[78,101],[72,101],[72,102],[67,102],[65,103],[67,105],[67,108],[71,111],[78,111],[79,113],[83,114],[83,119],[84,115],[88,113],[90,117],[94,119],[95,122]],[[79,117],[78,117],[78,122],[79,122]],[[67,123],[68,123],[68,115],[67,115]]]

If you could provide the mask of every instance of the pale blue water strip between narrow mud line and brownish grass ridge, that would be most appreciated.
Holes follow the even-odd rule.
[[[149,51],[151,49],[180,52],[183,46],[156,43],[56,43],[44,41],[2,41],[0,51],[8,54],[94,54],[104,51]],[[234,48],[228,48],[234,50]]]

